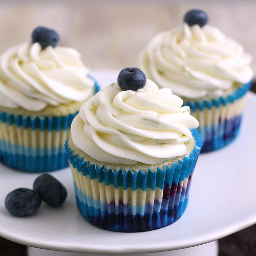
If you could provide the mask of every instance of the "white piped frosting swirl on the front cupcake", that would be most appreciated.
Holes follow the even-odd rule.
[[[124,91],[117,83],[84,103],[71,125],[76,147],[106,163],[160,163],[186,153],[190,129],[199,126],[189,107],[170,89]]]

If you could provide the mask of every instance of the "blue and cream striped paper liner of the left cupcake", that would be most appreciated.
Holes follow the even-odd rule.
[[[95,81],[95,93],[99,85]],[[0,161],[25,172],[44,173],[69,166],[65,141],[78,111],[62,117],[15,116],[0,111]]]

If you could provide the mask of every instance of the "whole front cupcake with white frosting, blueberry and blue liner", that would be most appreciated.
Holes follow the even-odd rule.
[[[76,202],[90,223],[139,232],[177,221],[201,150],[198,121],[137,68],[84,103],[66,152]]]

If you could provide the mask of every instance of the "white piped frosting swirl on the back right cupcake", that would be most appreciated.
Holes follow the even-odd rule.
[[[205,25],[156,35],[138,59],[147,78],[186,98],[219,97],[252,79],[251,56],[219,29]]]

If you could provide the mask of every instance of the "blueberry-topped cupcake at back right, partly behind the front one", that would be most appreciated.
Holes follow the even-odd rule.
[[[251,56],[207,21],[202,10],[187,12],[180,27],[149,42],[137,65],[190,107],[200,124],[201,152],[218,150],[236,138],[253,76]]]

